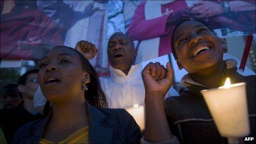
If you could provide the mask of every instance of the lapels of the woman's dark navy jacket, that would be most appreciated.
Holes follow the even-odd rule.
[[[88,102],[86,102],[86,107],[89,115],[89,142],[90,143],[111,143],[113,126],[110,124],[105,124],[105,120],[109,117],[107,113],[100,108],[96,108]],[[29,127],[29,135],[36,138],[37,142],[41,140],[44,135],[47,123],[52,117],[52,112],[50,112],[45,118],[38,120],[34,125]]]

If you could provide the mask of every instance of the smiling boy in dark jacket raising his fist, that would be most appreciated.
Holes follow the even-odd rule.
[[[248,137],[256,136],[255,76],[242,76],[237,72],[236,61],[223,60],[222,46],[221,39],[209,26],[198,21],[187,20],[175,28],[172,51],[179,69],[188,71],[182,79],[188,89],[184,90],[181,97],[167,98],[164,104],[164,95],[173,84],[170,64],[164,68],[159,63],[150,63],[144,68],[145,141],[226,143],[226,138],[218,133],[200,91],[223,86],[227,77],[230,77],[231,83],[247,83]]]

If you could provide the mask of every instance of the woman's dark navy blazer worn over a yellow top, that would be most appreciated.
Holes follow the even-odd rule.
[[[89,114],[89,143],[140,143],[140,127],[126,110],[86,105]],[[50,118],[51,113],[23,125],[15,133],[12,143],[39,143]]]

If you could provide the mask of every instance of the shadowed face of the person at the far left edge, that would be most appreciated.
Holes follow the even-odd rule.
[[[15,89],[3,89],[1,94],[1,103],[3,108],[13,108],[18,106],[22,102],[18,94],[18,90]]]

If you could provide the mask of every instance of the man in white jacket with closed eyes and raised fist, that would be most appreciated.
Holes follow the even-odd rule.
[[[96,47],[87,41],[79,41],[76,50],[88,60],[97,54]],[[135,104],[144,105],[145,90],[141,78],[142,65],[135,64],[137,51],[134,42],[124,33],[114,33],[108,42],[110,77],[100,77],[100,84],[109,97],[109,108],[130,108]],[[172,95],[178,93],[172,88]],[[46,99],[40,92],[35,93],[34,104],[39,111]]]

